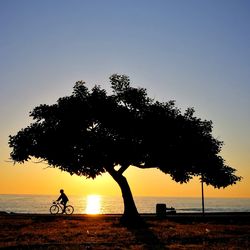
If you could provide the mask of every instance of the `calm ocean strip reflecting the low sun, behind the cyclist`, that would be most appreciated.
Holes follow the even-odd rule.
[[[0,194],[0,211],[8,213],[48,214],[55,195]],[[70,196],[75,214],[122,214],[122,197]],[[157,203],[174,207],[177,213],[202,212],[201,198],[134,197],[139,213],[155,213]],[[250,198],[205,198],[205,212],[250,212]]]

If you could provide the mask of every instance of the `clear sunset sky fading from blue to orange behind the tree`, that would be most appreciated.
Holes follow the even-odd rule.
[[[36,160],[13,165],[8,147],[34,107],[70,95],[78,80],[109,91],[118,73],[212,120],[222,157],[243,180],[205,186],[205,196],[250,197],[249,10],[248,0],[1,0],[0,194],[120,195],[108,174],[90,180]],[[178,184],[133,167],[125,175],[135,196],[201,194],[198,179]]]

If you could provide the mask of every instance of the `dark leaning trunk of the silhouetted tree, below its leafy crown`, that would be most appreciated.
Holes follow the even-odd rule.
[[[113,168],[108,169],[108,173],[117,182],[122,192],[122,198],[124,202],[124,213],[121,218],[121,221],[125,224],[130,225],[138,224],[138,222],[141,221],[141,218],[137,211],[127,179]]]

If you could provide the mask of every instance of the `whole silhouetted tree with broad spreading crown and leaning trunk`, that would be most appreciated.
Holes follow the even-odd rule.
[[[35,107],[34,123],[9,138],[13,161],[36,157],[93,179],[108,172],[121,189],[127,222],[139,218],[123,175],[129,167],[157,168],[179,183],[202,176],[216,188],[241,179],[219,155],[223,142],[213,138],[211,121],[195,117],[193,108],[182,114],[174,101],[150,99],[125,75],[114,74],[110,82],[110,95],[79,81],[70,96]]]

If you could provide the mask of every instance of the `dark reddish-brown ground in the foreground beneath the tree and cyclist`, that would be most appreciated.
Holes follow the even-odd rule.
[[[0,214],[1,249],[250,249],[250,213],[141,215]]]

